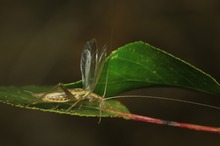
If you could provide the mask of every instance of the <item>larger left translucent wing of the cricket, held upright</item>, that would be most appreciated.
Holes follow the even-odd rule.
[[[95,39],[88,41],[82,51],[80,69],[82,74],[83,88],[94,89],[98,66],[98,49]]]

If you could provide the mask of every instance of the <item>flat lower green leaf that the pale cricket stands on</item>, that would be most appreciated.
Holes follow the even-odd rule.
[[[70,114],[78,116],[87,116],[87,117],[99,117],[99,104],[98,102],[82,101],[78,106],[73,107],[70,111],[67,109],[70,107],[71,103],[45,103],[38,101],[36,104],[32,104],[33,101],[37,101],[38,98],[32,96],[32,93],[45,93],[51,90],[53,87],[50,86],[23,86],[23,87],[0,87],[0,101],[6,104],[10,104],[16,107],[35,109],[47,112],[55,112],[60,114]],[[106,101],[103,105],[103,108],[123,111],[129,113],[127,108],[120,104],[116,100]],[[117,114],[105,112],[102,110],[102,117],[117,117]]]

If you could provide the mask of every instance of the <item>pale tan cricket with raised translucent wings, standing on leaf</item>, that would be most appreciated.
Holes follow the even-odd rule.
[[[105,96],[105,92],[103,96],[99,96],[93,93],[93,90],[95,89],[95,86],[101,75],[106,55],[106,45],[99,53],[96,40],[92,39],[88,41],[82,50],[80,60],[83,88],[67,89],[62,83],[59,83],[51,91],[54,91],[57,88],[60,88],[61,91],[33,95],[36,97],[40,97],[37,101],[41,100],[43,102],[50,103],[71,103],[71,106],[67,109],[67,111],[71,110],[75,105],[83,100],[97,101],[100,103],[99,105],[101,107],[104,101],[103,97]],[[35,101],[34,103],[37,103],[37,101]]]

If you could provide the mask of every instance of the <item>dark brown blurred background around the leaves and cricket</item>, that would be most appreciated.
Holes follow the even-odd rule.
[[[55,85],[81,79],[83,45],[96,38],[109,53],[142,40],[220,81],[218,0],[2,0],[0,85]],[[220,99],[173,88],[124,94],[180,98],[220,106]],[[133,113],[220,126],[220,111],[189,104],[121,100]],[[220,136],[123,119],[75,117],[0,104],[0,146],[217,146]]]

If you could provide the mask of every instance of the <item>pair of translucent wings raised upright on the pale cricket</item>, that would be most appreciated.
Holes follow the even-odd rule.
[[[80,68],[82,73],[83,88],[93,91],[101,75],[107,48],[104,47],[100,55],[98,54],[95,39],[88,41],[81,54]]]

